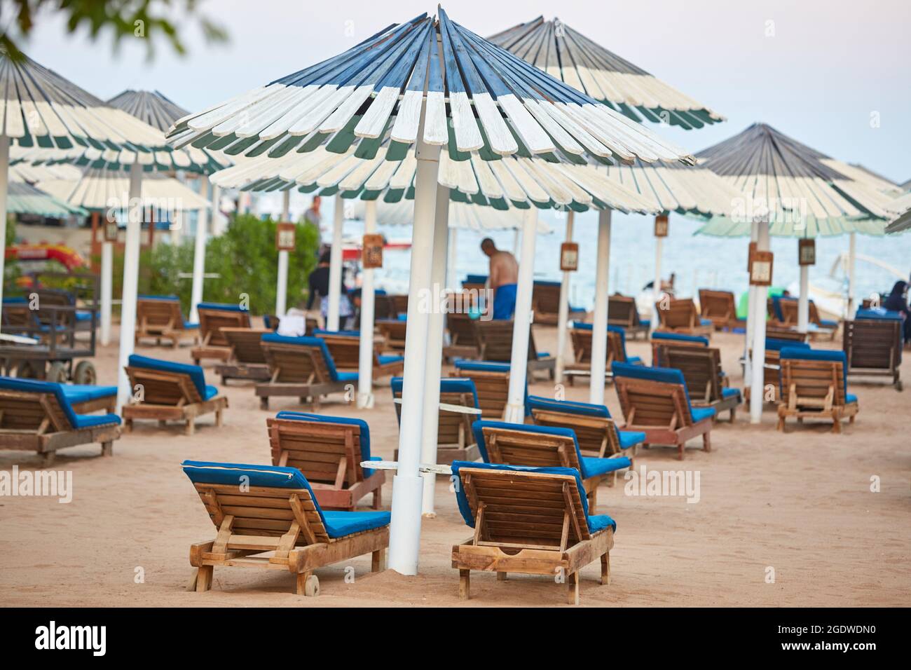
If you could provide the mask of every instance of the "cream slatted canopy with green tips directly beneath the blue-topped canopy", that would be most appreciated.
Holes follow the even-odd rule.
[[[385,148],[371,160],[359,159],[356,151],[333,153],[323,147],[307,154],[292,153],[281,159],[260,157],[239,160],[212,175],[222,188],[244,191],[302,192],[385,202],[415,197],[417,160],[414,149],[402,160],[391,160]],[[546,160],[505,157],[501,160],[452,160],[444,151],[437,180],[450,190],[453,201],[489,205],[495,210],[530,207],[574,211],[616,209],[653,213],[659,211],[640,194],[608,179],[591,166],[548,163]],[[597,195],[596,195],[597,194]]]

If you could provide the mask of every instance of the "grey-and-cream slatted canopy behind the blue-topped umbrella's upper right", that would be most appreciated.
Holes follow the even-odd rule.
[[[558,18],[545,21],[538,16],[487,39],[630,119],[644,118],[683,129],[725,120]]]

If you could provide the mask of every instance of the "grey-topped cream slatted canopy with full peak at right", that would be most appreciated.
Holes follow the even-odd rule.
[[[697,156],[747,199],[731,216],[712,217],[697,234],[748,236],[752,221],[761,217],[778,237],[876,235],[894,216],[885,207],[889,196],[845,174],[839,169],[844,163],[765,124]]]

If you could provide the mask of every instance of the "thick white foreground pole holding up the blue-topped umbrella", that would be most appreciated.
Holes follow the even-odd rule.
[[[398,470],[393,478],[392,521],[389,525],[389,567],[401,574],[417,574],[421,542],[421,501],[424,479],[418,471],[424,425],[424,371],[427,358],[429,314],[421,296],[430,287],[436,179],[440,147],[424,142],[425,106],[417,132],[415,227],[412,234],[411,276],[408,285],[408,328],[405,332],[402,422],[399,428]]]

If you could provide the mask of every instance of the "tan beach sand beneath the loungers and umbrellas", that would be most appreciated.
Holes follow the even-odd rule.
[[[538,348],[554,350],[556,330],[536,327]],[[115,337],[114,342],[117,342]],[[737,335],[716,334],[722,364],[734,386],[742,385]],[[827,346],[827,343],[819,343]],[[834,346],[837,346],[836,343]],[[631,355],[650,360],[648,345],[628,344]],[[138,353],[189,362],[189,345],[177,350],[138,348]],[[113,384],[117,347],[101,350],[100,383]],[[911,356],[903,376],[911,380]],[[210,383],[217,377],[209,374]],[[385,381],[385,380],[384,380]],[[455,508],[448,481],[436,484],[434,519],[425,519],[420,574],[370,573],[369,556],[317,571],[322,594],[293,592],[291,574],[216,568],[209,593],[189,593],[189,545],[215,531],[179,468],[183,459],[268,463],[265,418],[299,408],[294,398],[275,398],[261,411],[251,386],[221,387],[230,399],[225,426],[200,419],[197,433],[138,423],[115,443],[112,458],[95,446],[60,452],[55,469],[73,472],[69,504],[49,498],[0,498],[0,599],[33,606],[566,606],[565,587],[552,580],[514,576],[497,582],[476,574],[472,600],[458,599],[453,543],[470,531]],[[582,571],[584,606],[616,605],[907,605],[911,602],[911,441],[907,437],[909,392],[852,384],[860,414],[840,436],[824,425],[775,430],[772,410],[751,426],[745,408],[733,425],[712,430],[712,451],[694,440],[684,461],[676,451],[651,448],[637,465],[647,469],[698,470],[701,499],[633,497],[622,481],[599,490],[599,511],[618,524],[611,551],[612,582],[599,586],[599,567]],[[552,396],[552,383],[530,392]],[[567,387],[568,399],[585,400],[588,382]],[[619,416],[616,391],[606,390]],[[358,411],[341,400],[322,412],[360,416],[371,428],[375,455],[392,459],[398,428],[387,386],[376,389],[376,407]],[[36,469],[26,452],[0,451],[0,469]],[[872,492],[871,477],[881,481]],[[392,478],[384,503],[392,497]],[[364,500],[364,504],[368,500]],[[354,569],[346,582],[345,567]],[[773,582],[769,582],[770,568]]]

